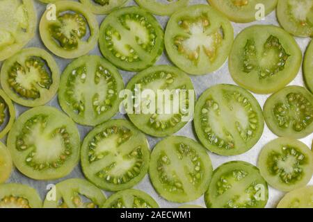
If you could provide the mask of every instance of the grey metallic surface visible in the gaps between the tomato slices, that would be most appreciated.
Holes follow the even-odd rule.
[[[191,4],[198,4],[198,3],[207,4],[207,1],[206,0],[191,0]],[[127,5],[128,6],[136,5],[136,3],[134,3],[134,0],[131,0],[131,1],[129,1],[129,3]],[[39,1],[35,1],[35,7],[37,8],[38,23],[39,23],[40,18],[42,16],[42,13],[45,11],[45,4],[40,3]],[[98,20],[99,24],[101,24],[104,17],[105,16],[97,16],[97,20]],[[156,17],[159,20],[159,22],[161,23],[161,25],[163,26],[163,28],[165,28],[166,23],[168,22],[168,17],[159,17],[159,16],[156,16]],[[266,19],[264,21],[261,21],[261,22],[252,22],[249,24],[232,23],[232,25],[234,27],[234,34],[237,35],[241,30],[243,30],[243,28],[246,28],[247,26],[252,26],[253,24],[278,25],[277,19],[275,17],[275,11],[272,12],[270,15],[268,15],[266,17]],[[296,41],[298,42],[301,51],[303,51],[303,53],[304,53],[305,49],[307,47],[307,44],[310,42],[310,38],[309,37],[305,37],[305,38],[296,37]],[[42,49],[47,50],[47,48],[42,44],[42,42],[40,40],[38,28],[37,28],[37,32],[36,32],[36,35],[33,38],[33,40],[31,40],[31,42],[29,42],[29,44],[26,45],[26,47],[31,47],[31,46],[40,47]],[[47,50],[47,51],[49,51],[49,50]],[[95,46],[95,49],[93,49],[93,51],[90,51],[90,54],[101,55],[101,53],[98,49],[98,46]],[[54,56],[54,58],[56,59],[56,62],[60,66],[61,71],[63,71],[63,69],[65,69],[67,64],[72,61],[72,60],[65,60],[62,58],[58,58],[57,56]],[[165,53],[163,53],[163,55],[161,56],[161,58],[159,59],[159,61],[157,62],[156,65],[164,65],[164,64],[171,65],[171,63],[168,60]],[[1,62],[0,62],[0,65],[1,65]],[[131,72],[127,72],[127,71],[120,71],[120,73],[122,74],[125,85],[129,81],[129,79],[136,74],[136,73],[131,73]],[[213,85],[220,84],[220,83],[235,84],[234,81],[232,80],[231,76],[230,76],[229,71],[228,71],[227,62],[225,62],[223,67],[220,67],[220,69],[218,69],[218,71],[215,71],[214,73],[207,74],[204,76],[190,76],[190,77],[191,77],[191,80],[193,81],[193,85],[195,87],[195,92],[197,94],[197,98],[200,96],[200,94],[202,94],[202,92],[204,92],[205,89],[207,89]],[[299,70],[298,75],[289,85],[301,85],[301,86],[303,86],[302,69]],[[257,98],[257,101],[259,101],[259,104],[263,107],[264,102],[266,101],[266,99],[268,98],[269,95],[254,94],[254,96]],[[56,96],[49,103],[47,103],[47,105],[51,105],[51,106],[54,106],[54,107],[60,109]],[[15,104],[15,108],[17,109],[17,116],[22,114],[22,112],[28,110],[28,108],[24,108],[21,105],[17,105],[17,104]],[[123,116],[122,114],[116,114],[115,117],[113,117],[113,118],[117,119],[117,118],[126,118],[126,117]],[[77,125],[77,126],[78,126],[79,132],[81,134],[81,140],[83,140],[85,135],[92,129],[92,128],[86,127],[86,126],[79,126],[79,125]],[[193,122],[187,123],[186,126],[184,126],[184,128],[179,130],[178,133],[175,133],[175,135],[183,135],[186,137],[190,137],[192,139],[196,139],[195,133],[193,132]],[[257,144],[255,144],[255,146],[253,148],[251,148],[250,151],[248,151],[246,153],[243,153],[241,155],[232,156],[232,157],[224,157],[224,156],[216,155],[216,154],[211,153],[209,151],[208,151],[208,153],[209,153],[209,156],[211,157],[211,161],[212,161],[214,169],[216,169],[216,167],[218,167],[220,164],[223,164],[225,162],[229,162],[232,160],[243,160],[243,161],[250,162],[251,164],[256,165],[257,164],[257,157],[258,157],[259,152],[261,151],[262,147],[266,143],[270,142],[272,139],[275,139],[276,137],[277,136],[275,136],[273,133],[271,133],[271,131],[268,129],[268,127],[265,126],[264,133],[263,133],[261,139],[259,139],[259,142],[257,142]],[[155,144],[157,144],[157,142],[159,142],[161,140],[159,138],[153,138],[153,137],[147,137],[147,138],[149,140],[149,144],[150,144],[151,149],[154,147]],[[312,139],[313,139],[313,135],[311,134],[308,137],[305,137],[304,139],[300,139],[300,140],[302,142],[304,142],[305,144],[307,144],[307,146],[311,147]],[[6,142],[6,138],[1,139],[1,140],[3,142]],[[32,180],[32,179],[27,178],[26,176],[22,175],[22,173],[19,173],[19,171],[17,171],[17,169],[15,169],[13,171],[10,179],[7,182],[17,182],[17,183],[30,185],[31,187],[34,187],[35,189],[38,190],[38,192],[39,192],[39,194],[43,200],[45,198],[45,194],[47,194],[47,185],[48,184],[56,184],[57,182],[61,182],[63,180],[69,179],[69,178],[84,178],[83,173],[81,172],[81,167],[77,166],[74,169],[74,171],[72,171],[72,173],[70,173],[70,175],[66,176],[65,178],[61,178],[59,180],[53,180],[53,181]],[[311,179],[310,185],[313,185],[313,179]],[[177,203],[168,202],[167,200],[164,200],[163,198],[161,198],[157,194],[157,192],[154,191],[154,188],[152,187],[152,185],[150,183],[148,175],[146,175],[145,178],[138,185],[136,185],[134,188],[135,189],[141,189],[141,190],[147,192],[147,194],[150,194],[157,201],[157,203],[159,203],[160,207],[177,207],[177,206],[181,205],[181,204],[177,204]],[[106,194],[106,196],[111,195],[111,193],[107,192],[107,191],[105,191],[105,194]],[[268,199],[268,204],[266,205],[266,207],[275,207],[278,204],[278,201],[280,200],[280,198],[282,198],[282,196],[284,196],[284,192],[278,191],[277,189],[273,189],[273,187],[269,187],[269,199]],[[190,204],[202,205],[203,207],[205,207],[203,196],[201,198],[199,198],[198,200],[190,202]]]

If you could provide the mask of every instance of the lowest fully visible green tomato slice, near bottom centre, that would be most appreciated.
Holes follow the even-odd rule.
[[[185,203],[200,198],[209,187],[212,171],[205,148],[187,137],[167,137],[151,154],[152,185],[172,202]]]

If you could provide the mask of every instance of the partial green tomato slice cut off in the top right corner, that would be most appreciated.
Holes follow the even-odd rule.
[[[313,36],[313,1],[278,0],[277,17],[287,32],[296,36]]]

